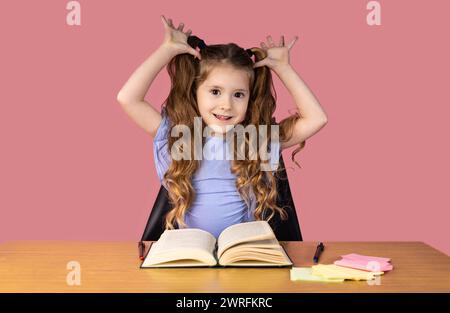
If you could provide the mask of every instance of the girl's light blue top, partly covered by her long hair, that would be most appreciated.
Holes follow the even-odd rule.
[[[163,178],[171,163],[168,149],[170,121],[164,110],[161,117],[161,124],[153,138],[153,156],[159,180],[168,189]],[[230,152],[225,138],[207,136],[203,149],[200,167],[192,177],[196,195],[184,221],[189,228],[206,230],[218,238],[228,226],[254,220],[256,198],[250,190],[247,204],[237,191],[236,176],[231,172],[230,158],[227,159]],[[269,154],[269,164],[275,170],[280,155],[279,142],[271,142]]]

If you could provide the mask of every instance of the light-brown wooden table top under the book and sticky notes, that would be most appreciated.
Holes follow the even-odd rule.
[[[311,266],[316,242],[280,242],[294,266]],[[140,269],[137,242],[10,241],[0,244],[0,292],[450,292],[450,258],[423,242],[324,242],[321,264],[359,253],[389,257],[379,284],[290,280],[289,268]],[[70,261],[81,284],[70,286]]]

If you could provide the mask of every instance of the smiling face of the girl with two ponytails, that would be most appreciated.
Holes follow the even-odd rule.
[[[249,96],[248,74],[230,65],[220,65],[198,87],[197,104],[214,135],[222,136],[245,119]]]

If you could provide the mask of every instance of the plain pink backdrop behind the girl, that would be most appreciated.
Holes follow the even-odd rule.
[[[80,1],[81,26],[67,2],[2,1],[0,241],[139,240],[160,185],[116,95],[164,14],[207,44],[299,36],[291,63],[329,117],[288,170],[304,240],[449,254],[448,1],[380,1],[381,26],[363,0]],[[279,121],[295,103],[274,77]],[[169,86],[164,70],[146,99],[160,108]]]

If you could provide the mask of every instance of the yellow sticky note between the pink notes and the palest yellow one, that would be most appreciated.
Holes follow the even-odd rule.
[[[312,274],[327,279],[372,280],[375,276],[383,275],[384,272],[367,272],[335,264],[318,264],[312,266]]]

